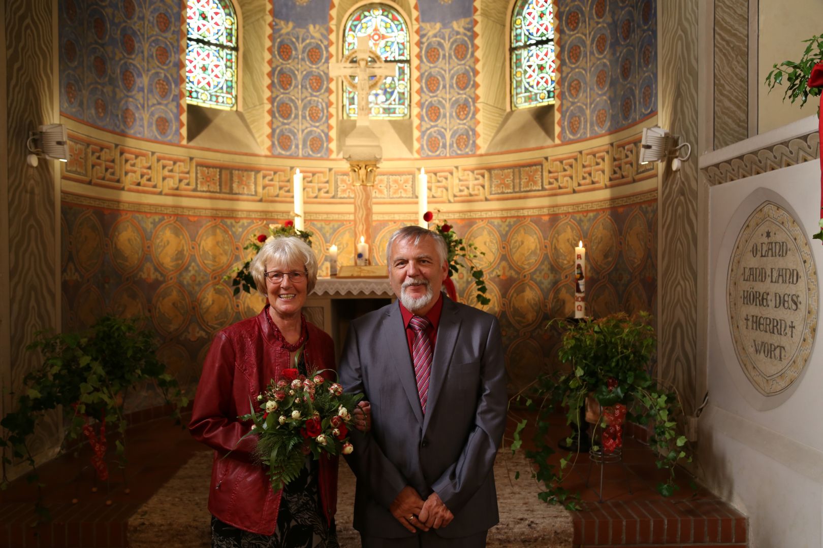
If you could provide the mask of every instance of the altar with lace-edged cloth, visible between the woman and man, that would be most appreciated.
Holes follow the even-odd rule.
[[[388,278],[318,278],[303,312],[306,320],[332,337],[339,362],[351,320],[393,302],[394,298]]]

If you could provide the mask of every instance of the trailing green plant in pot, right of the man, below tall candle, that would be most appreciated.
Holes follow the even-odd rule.
[[[686,437],[677,435],[677,395],[661,389],[651,374],[656,339],[650,320],[645,312],[632,316],[619,312],[597,320],[559,320],[563,334],[558,357],[570,369],[538,376],[513,398],[525,399],[526,407],[537,413],[535,449],[526,451],[526,456],[537,467],[534,477],[544,489],[540,494],[542,500],[565,504],[569,509],[578,507],[579,494],[562,486],[576,454],[570,452],[561,458],[559,466],[548,462],[555,453],[547,441],[549,424],[558,406],[566,410],[566,424],[579,435],[584,419],[579,410],[586,405],[588,418],[595,425],[591,446],[601,454],[611,454],[621,447],[622,423],[626,419],[641,425],[651,421],[653,435],[649,444],[658,454],[658,468],[669,472],[667,480],[658,483],[658,491],[667,496],[677,489],[675,465],[690,457],[686,453]],[[558,320],[552,323],[555,321]],[[527,424],[528,419],[518,422],[512,444],[515,451],[523,442],[521,432]],[[571,444],[571,440],[566,443]]]

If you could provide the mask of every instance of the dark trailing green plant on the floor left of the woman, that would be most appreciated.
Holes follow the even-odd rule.
[[[125,466],[128,424],[123,409],[130,389],[146,381],[155,382],[166,403],[174,403],[175,420],[179,420],[179,409],[188,403],[177,380],[157,358],[154,333],[140,328],[136,320],[106,315],[81,333],[39,332],[27,349],[40,352],[43,362],[23,378],[15,410],[0,421],[5,431],[0,438],[0,447],[5,448],[2,489],[8,486],[7,466],[12,465],[12,458],[30,465],[27,481],[38,481],[35,459],[26,441],[48,412],[62,410],[67,417],[63,449],[67,441],[77,440],[81,435],[88,440],[94,450],[91,463],[97,478],[105,481],[109,475],[105,463],[110,437],[107,430],[115,435],[117,464],[120,468]],[[37,486],[40,492],[40,484]],[[40,499],[36,509],[41,518],[48,518]]]

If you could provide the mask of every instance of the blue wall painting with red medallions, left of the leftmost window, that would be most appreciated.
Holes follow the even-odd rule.
[[[61,113],[179,142],[184,11],[177,0],[59,2]]]

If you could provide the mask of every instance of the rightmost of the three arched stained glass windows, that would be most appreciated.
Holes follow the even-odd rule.
[[[555,102],[551,0],[518,0],[512,13],[512,108]]]

